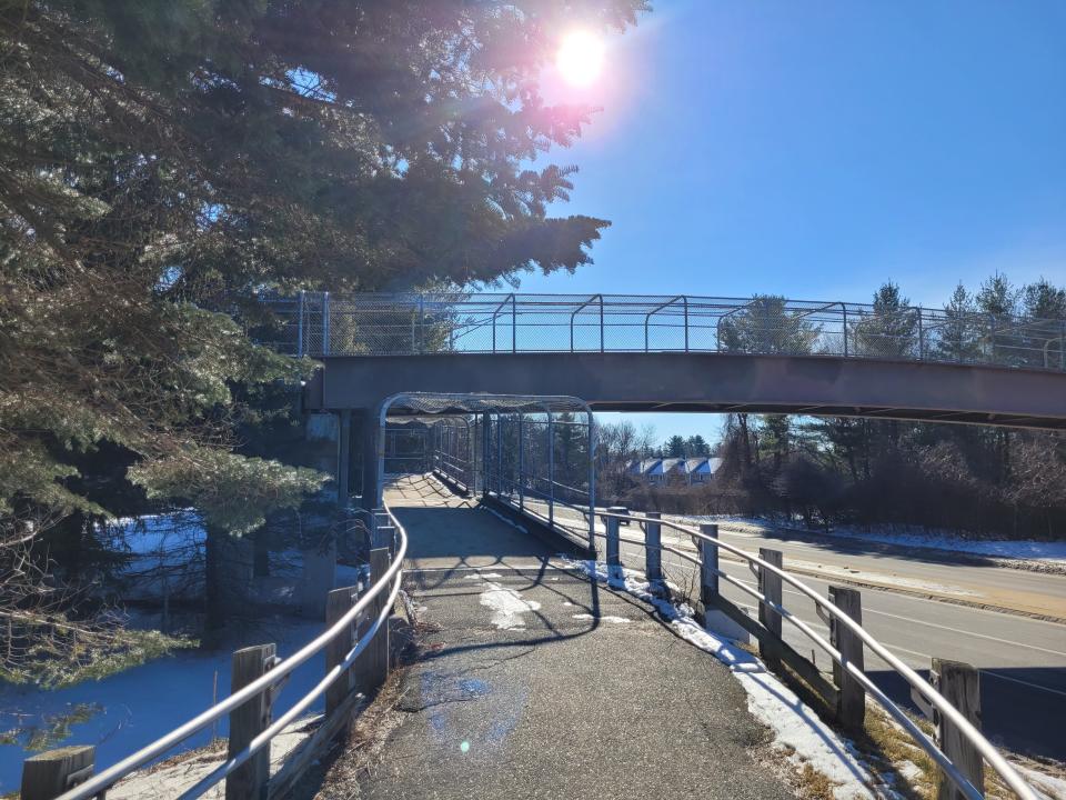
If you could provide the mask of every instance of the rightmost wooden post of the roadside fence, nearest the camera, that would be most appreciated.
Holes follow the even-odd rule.
[[[931,683],[944,699],[957,708],[971,723],[980,730],[980,673],[967,663],[933,659]],[[984,790],[985,767],[980,753],[943,714],[936,716],[936,742],[944,754],[978,791]],[[946,779],[941,780],[938,800],[964,800],[965,796]]]

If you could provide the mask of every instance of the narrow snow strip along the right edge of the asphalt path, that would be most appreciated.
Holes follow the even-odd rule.
[[[818,719],[795,693],[767,671],[762,661],[706,631],[696,622],[687,604],[674,606],[656,597],[644,576],[633,570],[615,568],[609,573],[606,564],[602,562],[566,561],[591,579],[606,582],[650,603],[677,636],[728,667],[747,692],[748,711],[773,731],[772,747],[785,753],[797,771],[804,764],[809,764],[833,781],[836,800],[897,797],[889,787],[877,782],[849,741]]]

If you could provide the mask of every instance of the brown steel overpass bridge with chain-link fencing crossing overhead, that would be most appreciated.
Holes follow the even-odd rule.
[[[751,411],[1066,429],[1066,321],[847,302],[304,293],[271,300],[320,360],[312,409],[400,392],[580,397],[596,411]]]

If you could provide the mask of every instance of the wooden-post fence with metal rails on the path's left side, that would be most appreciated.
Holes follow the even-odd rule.
[[[348,729],[361,702],[371,697],[389,676],[388,618],[399,591],[396,560],[403,558],[406,537],[388,511],[374,514],[371,537],[368,587],[362,592],[358,587],[323,588],[328,597],[322,634],[285,660],[278,658],[274,643],[235,651],[229,698],[95,778],[95,749],[91,746],[60,748],[27,759],[22,768],[22,800],[103,798],[111,786],[133,770],[150,763],[227,712],[227,760],[181,797],[199,797],[221,780],[225,781],[227,800],[280,800],[285,797],[329,743]],[[275,720],[275,701],[289,674],[320,651],[325,653],[324,678]],[[276,680],[271,679],[274,676]],[[257,690],[249,692],[252,686]],[[235,696],[244,693],[249,694],[247,699],[234,702]],[[318,728],[271,774],[271,739],[323,693],[325,713]]]

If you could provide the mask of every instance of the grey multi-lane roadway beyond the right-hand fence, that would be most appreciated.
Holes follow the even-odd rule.
[[[600,526],[602,530],[602,524]],[[1066,576],[1028,572],[992,562],[935,560],[927,552],[841,542],[835,539],[803,540],[760,526],[720,524],[723,541],[755,553],[760,547],[782,550],[786,569],[802,571],[802,579],[823,597],[829,582],[858,582],[863,593],[866,629],[907,666],[927,674],[934,656],[974,664],[982,671],[984,730],[998,743],[1022,752],[1066,760],[1066,739],[1057,720],[1066,719],[1066,624],[1023,614],[1066,618]],[[622,536],[643,538],[638,526],[622,528]],[[695,553],[685,534],[663,530],[664,543]],[[602,552],[602,540],[601,540]],[[623,544],[623,562],[643,570],[644,551]],[[695,582],[693,566],[664,553],[667,579],[678,587]],[[722,569],[731,577],[755,586],[746,563],[723,554]],[[816,577],[818,573],[824,578]],[[751,596],[722,582],[728,600],[756,614]],[[827,636],[814,603],[785,588],[785,608]],[[961,603],[1015,609],[1016,613]],[[785,640],[802,653],[812,643],[796,628],[784,623]],[[818,652],[816,663],[828,670],[828,657]],[[886,664],[867,654],[867,670],[893,699],[906,701],[903,681]]]

